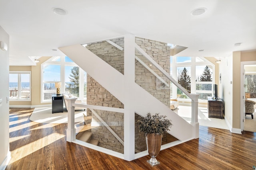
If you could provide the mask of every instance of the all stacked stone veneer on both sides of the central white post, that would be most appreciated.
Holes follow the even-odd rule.
[[[111,39],[110,41],[116,43],[124,48],[124,38]],[[162,68],[168,73],[170,72],[170,48],[166,43],[158,41],[151,41],[136,37],[136,43],[150,55]],[[95,55],[100,57],[106,63],[110,64],[116,70],[124,74],[124,50],[120,51],[106,41],[90,43],[86,46]],[[144,63],[148,64],[138,52],[136,55],[141,58]],[[160,74],[157,69],[152,68],[155,72]],[[104,71],[104,70],[99,70]],[[162,83],[156,80],[156,77],[150,73],[144,66],[135,60],[135,82],[147,90],[150,94],[158,98],[161,102],[170,106],[170,88],[162,86]],[[166,80],[170,84],[170,81]],[[87,74],[87,104],[106,107],[124,108],[124,104],[116,99],[110,92],[102,87],[96,80]],[[115,131],[115,133],[124,140],[124,115],[123,113],[114,113],[109,111],[96,110],[98,115]],[[90,110],[87,110],[87,115],[92,115],[92,124],[100,123]],[[141,117],[135,114],[135,149],[143,151],[146,150],[146,141],[143,134],[139,133],[137,121]],[[124,147],[122,144],[108,131],[106,127],[98,126],[91,130],[92,137],[99,140],[99,146],[116,152],[123,153]]]

